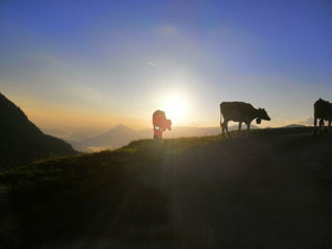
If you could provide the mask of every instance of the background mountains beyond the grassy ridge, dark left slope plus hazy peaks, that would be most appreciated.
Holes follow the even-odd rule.
[[[75,133],[58,128],[44,129],[45,133],[62,138],[60,139],[43,133],[29,121],[20,107],[1,93],[0,116],[0,169],[35,159],[70,156],[76,154],[76,151],[97,152],[115,149],[127,145],[132,141],[152,138],[153,136],[152,128],[134,131],[122,124],[103,133],[97,133],[93,127],[83,128]],[[291,124],[284,127],[303,126]],[[230,131],[237,128],[238,125],[229,126]],[[251,128],[259,127],[251,125]],[[246,129],[246,126],[243,129]],[[174,126],[170,132],[164,133],[164,137],[177,138],[218,134],[220,134],[220,127]]]

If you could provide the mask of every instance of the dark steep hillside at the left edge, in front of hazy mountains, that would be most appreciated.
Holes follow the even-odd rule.
[[[0,93],[0,169],[75,153],[70,144],[43,134]]]

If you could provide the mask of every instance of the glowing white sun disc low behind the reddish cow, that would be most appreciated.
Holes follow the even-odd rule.
[[[181,122],[187,114],[187,100],[176,93],[165,97],[163,104],[163,111],[166,112],[167,118],[170,118],[173,123]]]

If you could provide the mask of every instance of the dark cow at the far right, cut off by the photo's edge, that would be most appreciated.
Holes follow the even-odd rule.
[[[322,135],[324,129],[324,121],[329,122],[329,129],[331,128],[331,121],[332,121],[332,103],[329,101],[324,101],[322,98],[319,98],[313,104],[313,135],[317,134],[317,122],[320,120],[320,135]]]

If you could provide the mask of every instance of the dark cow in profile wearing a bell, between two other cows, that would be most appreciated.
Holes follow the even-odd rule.
[[[226,129],[228,137],[230,137],[228,132],[229,121],[239,122],[239,135],[242,123],[246,123],[247,134],[249,135],[250,124],[255,118],[257,124],[260,124],[261,120],[271,120],[264,108],[255,108],[251,104],[245,102],[221,102],[220,104],[220,127],[222,135],[225,134]]]

